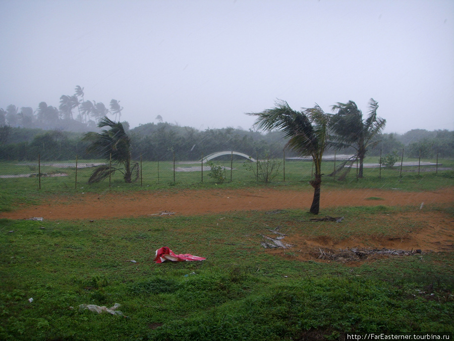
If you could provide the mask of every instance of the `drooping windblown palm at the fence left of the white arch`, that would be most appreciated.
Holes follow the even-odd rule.
[[[126,134],[120,122],[113,122],[104,117],[98,127],[110,127],[108,130],[101,130],[100,133],[88,132],[84,140],[90,141],[87,152],[99,153],[106,160],[111,160],[115,167],[100,166],[96,168],[88,179],[88,183],[99,182],[110,174],[120,171],[124,175],[125,182],[131,183],[139,176],[139,164],[131,163],[131,140]],[[119,167],[122,166],[122,167]]]

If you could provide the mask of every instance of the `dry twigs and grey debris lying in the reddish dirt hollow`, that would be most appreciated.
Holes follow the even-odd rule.
[[[406,250],[394,250],[394,249],[360,249],[360,248],[352,248],[352,249],[345,249],[345,250],[328,250],[325,251],[321,248],[318,248],[318,258],[336,262],[347,263],[351,261],[364,261],[369,259],[371,256],[375,255],[389,255],[389,256],[411,256],[414,254],[421,254],[421,250],[413,249],[411,251]]]

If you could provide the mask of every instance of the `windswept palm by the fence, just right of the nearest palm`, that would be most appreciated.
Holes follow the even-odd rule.
[[[363,113],[353,101],[337,103],[331,108],[337,113],[330,118],[333,133],[330,138],[338,149],[353,147],[356,150],[360,163],[358,177],[362,178],[367,148],[379,142],[372,142],[372,138],[384,129],[386,120],[377,117],[378,102],[374,99],[369,100],[369,116],[365,121]]]

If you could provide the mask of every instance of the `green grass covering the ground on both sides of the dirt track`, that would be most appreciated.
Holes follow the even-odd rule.
[[[374,162],[368,160],[367,162]],[[230,167],[230,161],[222,162]],[[195,165],[177,165],[195,166]],[[452,167],[443,160],[443,167]],[[33,166],[31,166],[33,167]],[[329,174],[332,163],[324,164]],[[83,191],[178,191],[185,188],[246,188],[257,183],[235,162],[222,184],[200,172],[174,172],[172,163],[143,163],[140,181],[121,174],[88,185],[91,169],[55,169],[67,177],[0,179],[1,211]],[[452,170],[417,173],[417,167],[366,169],[345,181],[324,176],[322,187],[433,190],[454,183]],[[410,172],[410,170],[413,170]],[[14,173],[12,173],[14,172]],[[33,172],[30,166],[0,164],[0,175]],[[37,170],[34,170],[37,172]],[[301,188],[311,164],[286,162],[267,186]],[[306,187],[307,188],[307,187]],[[452,252],[384,257],[349,266],[301,261],[289,249],[274,255],[260,245],[264,226],[291,227],[308,238],[327,235],[400,236],[419,226],[376,222],[407,207],[349,208],[345,223],[321,223],[304,210],[261,211],[89,221],[0,220],[0,339],[2,340],[337,340],[345,332],[454,332]],[[453,206],[425,206],[454,220]],[[324,210],[336,216],[336,209]],[[345,213],[345,212],[343,212]],[[349,219],[349,218],[355,219]],[[339,227],[340,226],[340,227]],[[203,262],[153,262],[168,246]],[[131,262],[134,260],[134,262]],[[33,301],[30,302],[33,298]],[[80,310],[83,304],[121,304],[124,316]]]

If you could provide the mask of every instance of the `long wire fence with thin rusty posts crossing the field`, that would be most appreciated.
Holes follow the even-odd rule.
[[[314,167],[311,157],[260,158],[241,156],[233,151],[223,152],[214,159],[200,156],[195,161],[143,161],[142,156],[132,160],[137,164],[131,185],[140,187],[168,187],[193,184],[251,184],[257,182],[301,182],[310,181]],[[208,160],[207,160],[208,159]],[[256,162],[258,161],[258,162]],[[446,163],[446,164],[445,164]],[[393,158],[366,158],[361,167],[355,155],[326,155],[322,161],[324,179],[345,180],[364,178],[405,178],[408,174],[421,176],[451,170],[452,160],[440,159],[438,154],[432,159],[408,158],[405,150]],[[97,167],[117,169],[99,183],[88,184],[89,178]],[[131,165],[133,167],[133,165]],[[362,174],[361,174],[362,172]],[[42,162],[40,155],[36,162],[0,162],[0,183],[4,188],[37,188],[46,190],[124,186],[124,169],[105,160],[79,160],[78,155],[71,162]],[[362,175],[362,176],[361,176]]]

